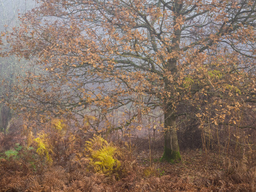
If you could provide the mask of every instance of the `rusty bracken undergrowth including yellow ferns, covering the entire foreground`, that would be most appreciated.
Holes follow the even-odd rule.
[[[56,119],[49,121],[30,145],[24,139],[16,138],[9,149],[5,146],[0,151],[0,191],[253,192],[255,189],[253,150],[242,151],[241,158],[208,152],[207,161],[204,152],[181,152],[184,160],[180,163],[154,162],[147,166],[140,163],[125,143],[114,144],[100,136],[85,138],[69,130],[63,120]],[[147,153],[143,154],[148,158]]]

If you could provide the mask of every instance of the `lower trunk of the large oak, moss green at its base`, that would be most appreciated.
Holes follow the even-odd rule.
[[[172,109],[164,113],[164,153],[161,160],[175,163],[181,160],[178,138],[176,133],[176,117]]]

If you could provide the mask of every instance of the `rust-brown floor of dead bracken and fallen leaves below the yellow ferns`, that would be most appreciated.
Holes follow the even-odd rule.
[[[124,145],[120,149],[121,168],[113,174],[93,172],[88,161],[31,163],[26,156],[35,152],[20,150],[19,158],[0,160],[0,191],[256,191],[255,151],[237,156],[218,150],[181,150],[181,162],[170,164],[159,161],[163,154],[159,149],[151,153],[145,148],[130,152]],[[35,170],[35,165],[40,168]]]

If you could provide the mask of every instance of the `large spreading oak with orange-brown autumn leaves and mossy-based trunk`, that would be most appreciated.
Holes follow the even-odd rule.
[[[82,117],[132,105],[137,110],[126,124],[160,108],[162,159],[180,160],[176,131],[183,117],[202,129],[255,127],[255,6],[249,0],[39,0],[10,40],[13,54],[41,69],[28,73],[25,88],[15,88],[18,104]]]

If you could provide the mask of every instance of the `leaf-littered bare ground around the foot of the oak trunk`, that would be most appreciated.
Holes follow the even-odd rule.
[[[202,175],[207,177],[212,175],[216,170],[221,169],[220,162],[218,162],[221,157],[213,151],[208,152],[206,155],[201,149],[183,150],[181,151],[181,162],[175,164],[159,161],[163,154],[162,150],[152,151],[151,153],[153,156],[152,162],[150,162],[148,157],[148,150],[142,151],[138,155],[136,154],[136,158],[142,166],[156,168],[160,175],[197,178]]]

